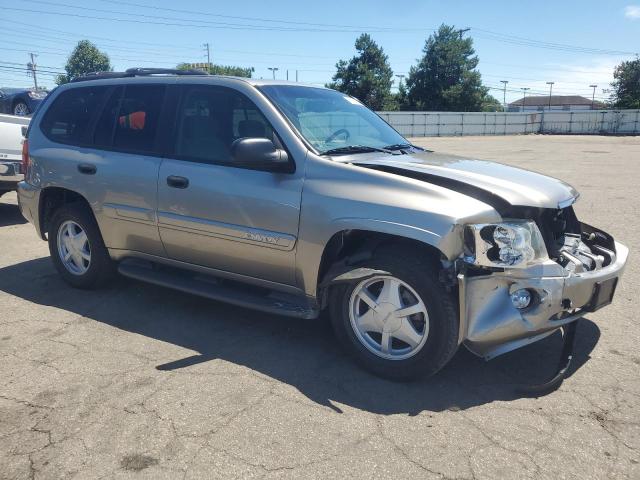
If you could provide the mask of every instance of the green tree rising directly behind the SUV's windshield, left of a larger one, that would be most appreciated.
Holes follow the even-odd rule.
[[[357,55],[336,63],[336,74],[327,87],[351,95],[373,110],[393,109],[389,58],[366,33],[358,37],[355,46]]]

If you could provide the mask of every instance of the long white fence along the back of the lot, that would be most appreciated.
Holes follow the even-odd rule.
[[[406,137],[460,135],[640,134],[640,110],[575,112],[378,112]]]

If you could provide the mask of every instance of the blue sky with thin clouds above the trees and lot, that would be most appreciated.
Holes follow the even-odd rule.
[[[469,28],[483,83],[507,102],[527,95],[608,94],[613,69],[640,53],[640,0],[0,0],[0,85],[52,87],[74,45],[89,39],[115,70],[205,62],[252,66],[257,78],[324,84],[339,59],[369,33],[406,75],[427,37],[442,24]],[[398,79],[396,79],[396,82]],[[397,84],[396,84],[397,85]]]

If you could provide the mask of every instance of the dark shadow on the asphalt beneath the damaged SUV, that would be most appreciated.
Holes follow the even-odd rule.
[[[48,258],[0,269],[0,291],[198,352],[154,365],[158,370],[206,368],[204,362],[222,359],[289,384],[336,412],[348,405],[417,415],[521,398],[526,394],[519,386],[555,373],[562,345],[556,333],[491,362],[461,348],[435,377],[393,383],[355,366],[324,321],[256,313],[124,278],[106,290],[79,295],[63,283]],[[570,375],[589,360],[599,337],[596,324],[580,322]]]

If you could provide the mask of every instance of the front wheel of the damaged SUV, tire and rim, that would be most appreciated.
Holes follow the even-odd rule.
[[[457,302],[440,283],[437,266],[428,257],[401,257],[398,250],[386,249],[358,267],[388,275],[331,289],[335,334],[365,369],[392,380],[410,380],[435,374],[453,357],[458,347]]]

